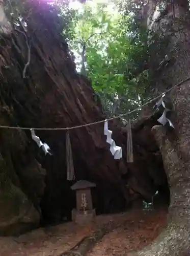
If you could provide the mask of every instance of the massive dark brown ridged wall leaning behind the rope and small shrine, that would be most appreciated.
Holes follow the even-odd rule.
[[[75,71],[56,11],[42,2],[26,1],[27,33],[17,26],[11,37],[0,39],[0,124],[70,127],[103,120],[91,84]],[[30,63],[23,76],[29,48]],[[126,132],[121,123],[108,124],[123,148],[121,161],[109,151],[103,123],[70,131],[75,177],[96,183],[97,212],[121,210],[139,196],[151,199],[158,187],[167,185],[150,135],[155,123],[133,127],[135,162],[131,164],[126,163]],[[36,131],[36,135],[50,146],[52,156],[44,155],[30,131],[1,129],[0,234],[29,230],[40,219],[71,218],[75,194],[70,189],[73,183],[66,180],[66,131]]]

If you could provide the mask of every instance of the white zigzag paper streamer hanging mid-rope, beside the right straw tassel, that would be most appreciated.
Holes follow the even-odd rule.
[[[104,122],[104,135],[107,136],[106,142],[110,144],[110,151],[114,158],[122,158],[122,148],[120,146],[116,146],[115,141],[112,139],[112,131],[108,130],[107,119]]]

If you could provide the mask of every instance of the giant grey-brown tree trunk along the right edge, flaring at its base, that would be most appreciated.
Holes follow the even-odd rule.
[[[156,11],[157,2],[149,2],[147,19],[152,21],[149,29],[169,35],[168,66],[154,72],[154,94],[164,92],[190,76],[190,22],[187,1],[174,1],[173,8],[165,12]],[[156,42],[157,43],[157,42]],[[152,47],[153,49],[153,47]],[[150,63],[155,60],[155,51],[150,50]],[[156,55],[160,57],[160,52]],[[162,52],[163,54],[163,52]],[[154,56],[154,57],[153,57]],[[157,58],[158,59],[158,58]],[[158,62],[159,63],[159,62]],[[151,67],[151,65],[150,65]],[[155,66],[154,66],[155,67]],[[159,72],[159,74],[158,74]],[[173,102],[172,122],[175,130],[161,125],[154,126],[152,132],[160,148],[171,191],[168,225],[157,239],[143,250],[132,255],[188,255],[190,249],[190,80],[186,80],[169,94]]]

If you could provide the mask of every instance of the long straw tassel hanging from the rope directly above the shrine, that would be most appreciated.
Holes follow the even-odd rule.
[[[66,133],[66,161],[67,161],[67,180],[74,180],[74,164],[72,158],[72,148],[69,132]]]

